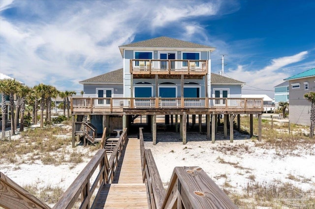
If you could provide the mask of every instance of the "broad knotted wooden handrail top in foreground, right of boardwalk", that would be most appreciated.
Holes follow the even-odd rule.
[[[200,167],[175,167],[162,208],[237,209]]]

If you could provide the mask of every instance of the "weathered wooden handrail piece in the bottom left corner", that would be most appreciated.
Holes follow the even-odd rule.
[[[30,192],[0,172],[0,207],[6,209],[50,209]]]

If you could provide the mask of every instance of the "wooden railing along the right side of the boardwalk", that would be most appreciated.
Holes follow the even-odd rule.
[[[220,187],[200,167],[175,167],[167,191],[152,152],[144,148],[139,129],[143,182],[150,209],[237,209]]]

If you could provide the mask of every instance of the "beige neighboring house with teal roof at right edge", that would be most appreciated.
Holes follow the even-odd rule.
[[[315,68],[285,78],[289,81],[290,123],[311,125],[311,103],[304,94],[315,91]]]

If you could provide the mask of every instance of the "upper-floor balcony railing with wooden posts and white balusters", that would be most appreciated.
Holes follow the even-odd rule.
[[[206,75],[208,60],[131,59],[132,74]]]

